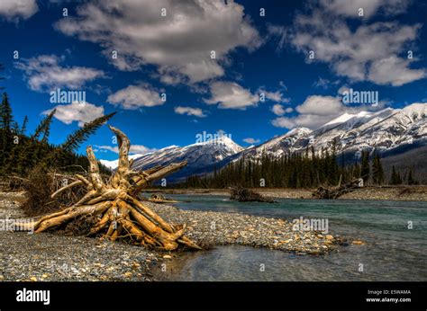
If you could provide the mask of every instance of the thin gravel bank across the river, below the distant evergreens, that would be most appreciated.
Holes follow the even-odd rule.
[[[313,189],[254,188],[260,194],[276,199],[313,199]],[[167,194],[230,195],[227,189],[152,189]],[[427,201],[427,186],[365,187],[342,195],[339,200],[421,200]]]

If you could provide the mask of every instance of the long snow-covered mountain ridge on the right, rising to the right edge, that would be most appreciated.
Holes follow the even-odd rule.
[[[386,155],[398,152],[403,147],[407,149],[426,145],[427,104],[413,103],[404,109],[344,113],[319,129],[292,129],[285,135],[232,156],[231,160],[235,161],[242,156],[259,158],[263,152],[279,156],[303,151],[311,146],[320,151],[322,148],[331,148],[334,140],[339,153],[352,155],[354,159],[364,149],[375,149]]]

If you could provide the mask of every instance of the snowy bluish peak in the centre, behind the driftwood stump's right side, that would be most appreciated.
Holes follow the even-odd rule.
[[[209,172],[213,170],[215,164],[242,150],[244,148],[233,142],[231,138],[222,136],[186,147],[165,147],[142,155],[135,159],[132,168],[142,170],[159,164],[166,165],[186,161],[187,164],[183,169],[168,176],[168,179],[175,180],[195,173]]]

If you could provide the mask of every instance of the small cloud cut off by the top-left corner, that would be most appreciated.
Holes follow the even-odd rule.
[[[6,21],[14,21],[23,18],[29,19],[39,11],[36,0],[2,0],[0,1],[0,16]]]

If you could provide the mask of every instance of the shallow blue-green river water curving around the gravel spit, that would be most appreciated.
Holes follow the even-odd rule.
[[[180,209],[272,218],[327,218],[332,235],[367,244],[326,255],[295,255],[241,245],[185,253],[167,280],[427,280],[427,203],[384,200],[278,200],[241,203],[223,196],[171,195]],[[189,201],[189,202],[187,202]],[[413,229],[408,228],[412,221]]]

